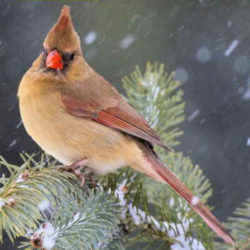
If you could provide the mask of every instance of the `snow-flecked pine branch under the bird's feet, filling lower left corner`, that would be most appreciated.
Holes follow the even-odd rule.
[[[101,188],[80,189],[75,177],[42,156],[23,156],[21,167],[1,158],[10,177],[1,177],[0,239],[25,236],[26,249],[103,249],[117,234],[119,206]]]

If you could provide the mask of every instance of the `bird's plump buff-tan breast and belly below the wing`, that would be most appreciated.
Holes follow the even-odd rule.
[[[129,164],[133,153],[136,154],[137,147],[130,136],[68,114],[58,92],[19,98],[20,113],[28,134],[63,164],[87,157],[88,166],[104,174]]]

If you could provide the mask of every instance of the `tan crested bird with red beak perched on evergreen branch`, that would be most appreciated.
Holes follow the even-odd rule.
[[[130,166],[169,184],[226,243],[232,236],[210,210],[167,168],[153,146],[169,150],[146,120],[85,60],[70,7],[64,5],[43,51],[18,87],[27,133],[73,171],[84,165],[107,174]]]

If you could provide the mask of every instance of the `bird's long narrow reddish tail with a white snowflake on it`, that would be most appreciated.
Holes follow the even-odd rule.
[[[163,181],[169,184],[179,195],[181,195],[193,208],[193,210],[200,215],[200,217],[207,223],[207,225],[226,243],[235,245],[234,239],[217,220],[217,218],[210,212],[210,210],[199,200],[198,197],[194,196],[192,192],[168,169],[163,163],[161,163],[155,155],[145,155],[147,162],[149,162],[151,168],[157,175],[151,175],[158,181]]]

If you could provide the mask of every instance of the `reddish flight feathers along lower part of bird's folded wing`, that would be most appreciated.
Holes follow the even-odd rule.
[[[169,150],[147,122],[122,98],[117,105],[106,109],[102,109],[100,104],[94,100],[89,100],[89,102],[80,101],[65,94],[62,96],[62,102],[67,112],[72,115],[90,118],[102,125],[120,130]]]

